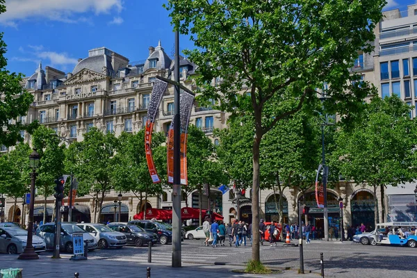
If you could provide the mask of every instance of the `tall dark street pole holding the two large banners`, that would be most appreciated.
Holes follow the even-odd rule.
[[[177,26],[179,28],[179,26]],[[175,31],[174,184],[172,185],[172,268],[181,268],[181,163],[179,112],[179,30]]]

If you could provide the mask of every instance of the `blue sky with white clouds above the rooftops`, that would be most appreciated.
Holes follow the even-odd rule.
[[[131,61],[145,60],[148,47],[158,45],[168,55],[174,33],[167,0],[6,0],[0,31],[8,44],[8,70],[31,75],[42,66],[72,72],[88,50],[108,47]],[[385,9],[400,8],[416,0],[389,0]],[[181,49],[193,48],[181,36]]]

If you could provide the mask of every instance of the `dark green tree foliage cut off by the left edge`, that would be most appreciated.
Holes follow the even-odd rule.
[[[5,0],[0,0],[0,14],[6,12],[4,3]],[[0,128],[0,145],[10,147],[23,141],[20,131],[27,130],[31,133],[38,123],[26,125],[20,120],[13,121],[28,113],[28,108],[33,103],[33,95],[22,89],[22,74],[6,70],[6,46],[3,33],[0,33],[0,126],[5,127]]]

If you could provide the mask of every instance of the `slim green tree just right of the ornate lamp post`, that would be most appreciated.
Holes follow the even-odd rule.
[[[47,221],[47,198],[54,194],[54,180],[64,173],[65,145],[60,145],[60,139],[53,136],[54,129],[39,126],[32,136],[32,145],[40,156],[36,186],[38,193],[44,197],[44,217]]]

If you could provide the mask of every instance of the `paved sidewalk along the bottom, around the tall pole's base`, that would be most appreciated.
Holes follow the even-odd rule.
[[[182,268],[172,268],[168,265],[111,261],[110,259],[70,261],[68,257],[51,259],[49,256],[40,256],[38,260],[18,260],[17,255],[0,255],[0,269],[22,268],[24,278],[73,278],[74,272],[79,272],[79,278],[145,278],[147,277],[147,267],[151,268],[151,277],[320,277],[317,273],[299,275],[295,270],[283,270],[282,273],[275,275],[250,275],[231,272],[231,270],[243,269],[243,265],[183,263]]]

